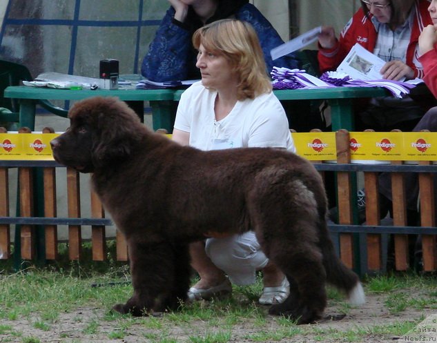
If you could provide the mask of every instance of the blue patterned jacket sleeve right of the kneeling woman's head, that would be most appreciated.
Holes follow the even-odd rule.
[[[280,57],[279,59],[275,59],[275,61],[271,59],[270,50],[280,46],[284,41],[282,41],[278,32],[273,28],[266,17],[262,15],[258,8],[255,8],[251,3],[248,3],[240,8],[236,17],[242,21],[247,21],[255,29],[258,39],[260,39],[268,72],[271,72],[273,66],[287,67],[290,69],[298,68],[298,59],[294,54]]]

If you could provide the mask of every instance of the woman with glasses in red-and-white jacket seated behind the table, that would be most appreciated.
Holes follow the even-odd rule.
[[[362,8],[344,26],[339,39],[333,28],[322,28],[318,53],[320,71],[336,70],[353,45],[359,43],[387,62],[380,70],[381,78],[422,78],[418,37],[425,26],[432,23],[427,10],[429,1],[362,0],[361,3]],[[365,110],[356,116],[356,128],[410,131],[424,112],[423,107],[409,97],[371,99]]]

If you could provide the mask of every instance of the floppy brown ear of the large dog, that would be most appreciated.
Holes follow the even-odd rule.
[[[137,117],[122,104],[117,103],[114,111],[99,112],[97,115],[97,130],[93,133],[95,166],[106,166],[127,159],[139,141],[140,136],[135,129]]]

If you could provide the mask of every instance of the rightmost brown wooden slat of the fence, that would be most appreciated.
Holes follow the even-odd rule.
[[[419,164],[429,165],[429,161]],[[434,177],[431,173],[419,174],[420,189],[420,224],[422,226],[436,226],[434,213]],[[423,270],[436,270],[436,236],[422,235]]]

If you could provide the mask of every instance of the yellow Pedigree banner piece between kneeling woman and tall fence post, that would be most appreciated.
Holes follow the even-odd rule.
[[[291,133],[298,155],[311,161],[336,160],[336,133]]]

